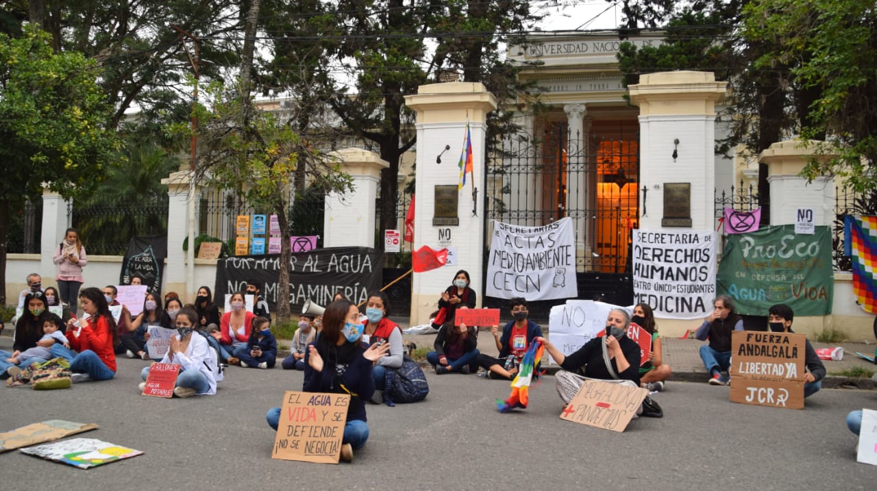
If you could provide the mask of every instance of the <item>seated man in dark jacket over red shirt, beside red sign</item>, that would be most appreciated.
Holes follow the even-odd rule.
[[[513,320],[503,326],[503,334],[500,335],[499,326],[490,327],[490,334],[496,342],[499,350],[499,358],[494,358],[481,353],[477,357],[478,365],[487,370],[488,378],[512,380],[517,374],[517,366],[520,365],[524,353],[533,342],[533,339],[542,336],[542,328],[539,324],[527,319],[527,301],[523,297],[512,298],[509,301],[511,317]]]

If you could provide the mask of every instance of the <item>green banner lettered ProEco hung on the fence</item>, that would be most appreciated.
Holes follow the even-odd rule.
[[[834,298],[831,232],[817,226],[804,235],[794,225],[776,225],[729,235],[716,283],[740,314],[766,316],[771,305],[786,303],[795,317],[827,316]]]

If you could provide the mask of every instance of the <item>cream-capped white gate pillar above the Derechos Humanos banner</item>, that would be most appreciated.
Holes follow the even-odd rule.
[[[648,189],[639,228],[661,228],[666,182],[691,185],[691,226],[685,228],[715,228],[716,103],[726,88],[712,73],[676,71],[642,75],[628,89],[639,106],[639,187]]]

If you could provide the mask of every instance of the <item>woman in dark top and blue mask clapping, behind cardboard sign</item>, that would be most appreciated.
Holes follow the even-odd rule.
[[[350,395],[344,436],[341,438],[341,459],[353,460],[353,451],[366,445],[366,401],[374,392],[374,364],[389,352],[389,343],[374,343],[366,349],[361,341],[360,310],[353,302],[337,300],[323,314],[323,331],[304,355],[305,392],[331,392]],[[281,408],[269,409],[265,415],[271,428],[277,430]]]

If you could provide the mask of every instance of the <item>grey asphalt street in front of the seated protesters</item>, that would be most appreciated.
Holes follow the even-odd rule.
[[[10,338],[0,339],[8,349]],[[624,433],[560,420],[552,376],[531,405],[496,410],[507,382],[428,371],[426,401],[369,405],[371,436],[353,464],[271,459],[267,409],[302,373],[232,366],[217,395],[139,395],[146,361],[118,359],[112,381],[39,392],[0,387],[0,431],[48,419],[97,423],[83,433],[146,452],[89,470],[21,452],[0,454],[6,487],[45,489],[873,489],[877,468],[856,463],[851,409],[877,408],[877,391],[824,389],[803,410],[728,401],[729,388],[670,382],[661,419]]]

